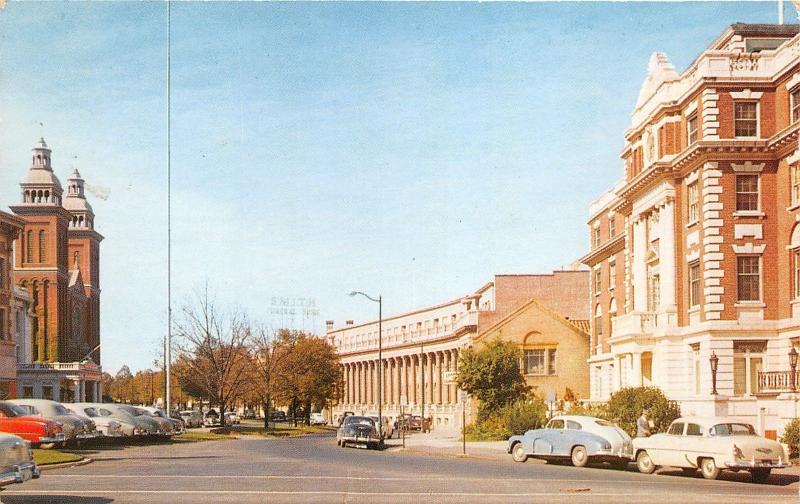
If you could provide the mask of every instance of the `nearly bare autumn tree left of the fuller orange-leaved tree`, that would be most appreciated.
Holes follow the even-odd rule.
[[[175,325],[179,359],[184,364],[179,380],[219,406],[223,427],[225,411],[248,387],[250,334],[247,317],[235,311],[220,312],[209,298],[208,287],[183,307]]]

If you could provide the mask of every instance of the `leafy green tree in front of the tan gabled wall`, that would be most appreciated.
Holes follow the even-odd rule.
[[[480,401],[479,420],[531,390],[520,370],[519,348],[499,339],[488,341],[480,349],[461,352],[456,383]]]

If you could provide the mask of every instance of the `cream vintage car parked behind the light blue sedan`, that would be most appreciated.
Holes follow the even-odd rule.
[[[633,449],[636,467],[645,474],[672,466],[716,479],[727,469],[750,471],[753,481],[764,483],[773,469],[791,465],[780,444],[730,417],[681,417],[664,434],[634,439]]]

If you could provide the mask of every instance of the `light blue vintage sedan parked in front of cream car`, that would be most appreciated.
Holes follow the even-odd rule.
[[[570,460],[583,467],[589,462],[610,462],[624,469],[633,453],[631,437],[615,424],[589,416],[564,415],[542,429],[508,438],[508,453],[516,462],[529,457]]]

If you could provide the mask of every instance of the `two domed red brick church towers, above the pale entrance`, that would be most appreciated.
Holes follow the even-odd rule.
[[[22,188],[22,203],[11,210],[25,226],[16,247],[15,282],[33,300],[34,362],[74,362],[99,344],[99,256],[103,237],[77,170],[67,194],[53,173],[44,139]],[[91,357],[97,362],[99,351]]]

